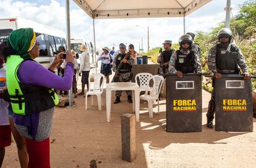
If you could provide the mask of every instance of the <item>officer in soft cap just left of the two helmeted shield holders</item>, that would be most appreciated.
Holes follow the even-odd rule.
[[[171,49],[171,40],[166,40],[163,42],[164,51],[161,52],[159,57],[157,58],[157,62],[160,63],[160,74],[169,73],[168,66],[171,55],[173,54],[174,50]]]

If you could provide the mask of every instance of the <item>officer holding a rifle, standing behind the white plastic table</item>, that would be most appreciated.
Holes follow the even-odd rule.
[[[114,57],[113,62],[113,71],[117,73],[115,82],[130,82],[132,77],[132,65],[134,65],[134,58],[132,55],[127,52],[126,45],[119,44],[119,51],[117,51],[116,57]],[[127,58],[125,58],[127,55]],[[122,65],[119,67],[119,64],[122,62]],[[117,68],[119,67],[119,70]],[[132,103],[132,91],[126,90],[127,99],[129,103]],[[121,102],[120,97],[122,95],[121,90],[116,91],[116,100],[114,100],[114,104]]]

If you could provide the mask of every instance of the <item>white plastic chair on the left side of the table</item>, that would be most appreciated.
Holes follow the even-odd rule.
[[[94,79],[94,85],[93,89],[91,88],[91,82],[90,79]],[[102,84],[100,86],[100,80],[102,81]],[[94,73],[89,76],[89,90],[85,94],[85,110],[87,110],[87,97],[88,95],[92,95],[92,106],[93,106],[93,95],[96,95],[98,99],[98,108],[101,110],[101,106],[103,106],[103,98],[101,97],[103,93],[103,85],[104,85],[104,79],[105,76],[101,73]]]

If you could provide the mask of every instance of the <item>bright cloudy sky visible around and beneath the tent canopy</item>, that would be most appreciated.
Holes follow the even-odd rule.
[[[128,0],[127,0],[128,1]],[[245,0],[231,0],[235,16],[239,4]],[[186,31],[208,32],[225,20],[226,0],[213,0],[186,17]],[[66,32],[66,0],[1,0],[0,17],[22,17]],[[74,39],[93,41],[92,18],[70,0],[70,34]],[[136,25],[139,25],[136,26]],[[162,46],[164,40],[177,43],[183,34],[183,18],[124,18],[95,20],[96,47],[119,46],[119,43],[134,44],[135,50],[147,50],[147,26],[150,34],[150,49]]]

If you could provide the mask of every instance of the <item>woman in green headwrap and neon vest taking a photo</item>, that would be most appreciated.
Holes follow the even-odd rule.
[[[54,74],[61,62],[59,53],[47,69],[35,62],[39,55],[36,34],[32,28],[13,31],[5,42],[2,55],[6,60],[7,87],[14,112],[15,127],[26,139],[28,167],[49,168],[49,135],[54,106],[58,97],[53,91],[69,90],[74,74],[74,57],[67,52],[63,77]]]

